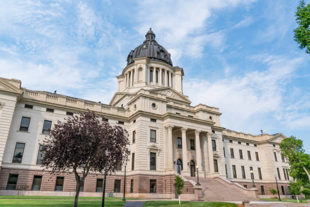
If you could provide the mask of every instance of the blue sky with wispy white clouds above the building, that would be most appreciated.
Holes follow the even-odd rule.
[[[308,2],[308,1],[306,1]],[[108,103],[128,53],[156,40],[184,68],[192,105],[223,127],[282,132],[310,153],[310,55],[293,41],[299,1],[5,1],[0,77]]]

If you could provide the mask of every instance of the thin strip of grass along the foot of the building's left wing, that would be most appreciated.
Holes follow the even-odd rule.
[[[0,203],[2,198],[8,199],[74,199],[74,196],[40,196],[40,195],[0,195]],[[102,197],[81,197],[79,200],[101,200]],[[105,200],[122,200],[121,197],[105,197]],[[137,200],[138,198],[126,198],[126,200]]]

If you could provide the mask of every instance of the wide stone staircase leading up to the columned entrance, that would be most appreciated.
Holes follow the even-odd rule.
[[[185,177],[196,183],[195,177]],[[199,183],[202,190],[204,200],[208,201],[243,201],[243,200],[258,200],[258,198],[245,194],[243,187],[231,185],[219,178],[199,178]]]

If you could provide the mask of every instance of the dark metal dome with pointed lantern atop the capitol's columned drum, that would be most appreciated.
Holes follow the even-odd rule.
[[[127,56],[127,65],[132,64],[134,58],[148,57],[151,61],[159,61],[172,65],[170,53],[155,40],[155,34],[151,28],[145,34],[143,44],[132,50]]]

